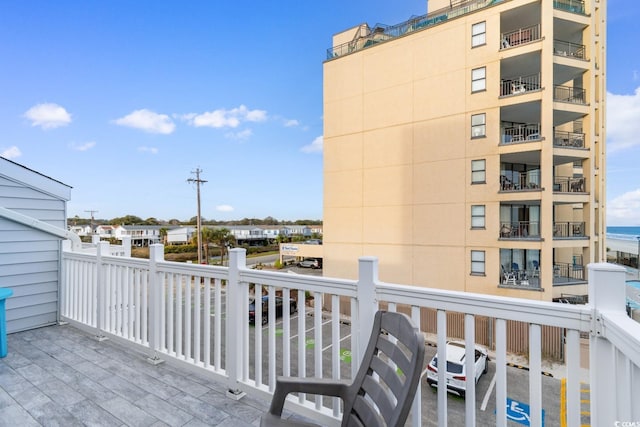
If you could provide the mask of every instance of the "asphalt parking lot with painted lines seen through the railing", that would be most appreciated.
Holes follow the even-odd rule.
[[[302,309],[302,308],[301,308]],[[323,375],[331,377],[332,372],[332,344],[331,344],[331,327],[329,318],[323,318],[321,322],[323,342],[318,343],[315,341],[315,319],[313,316],[313,309],[306,307],[305,310],[300,310],[298,313],[291,316],[290,324],[290,348],[291,348],[291,375],[297,375],[297,349],[298,349],[298,337],[300,331],[298,331],[298,316],[305,316],[305,331],[304,343],[306,352],[306,375],[314,376],[316,369],[315,354],[317,353],[317,347],[321,346],[322,355],[322,371]],[[268,325],[251,328],[250,342],[254,342],[254,333],[260,330],[263,334],[262,348],[263,352],[267,351],[267,335]],[[278,366],[278,375],[282,372],[282,319],[277,319],[276,325],[276,360]],[[340,325],[340,372],[342,378],[350,378],[350,362],[351,362],[351,340],[349,336],[350,327],[346,324]],[[425,352],[425,369],[426,364],[436,353],[436,348],[433,346],[426,346]],[[253,357],[251,358],[251,364],[253,365]],[[266,369],[266,356],[263,356],[264,369]],[[268,373],[263,369],[263,381],[267,381]],[[251,375],[253,376],[253,369],[251,369]],[[495,394],[495,361],[490,360],[488,373],[483,375],[478,381],[476,388],[476,422],[479,426],[495,425],[496,417],[496,394]],[[422,425],[430,426],[437,425],[437,389],[427,384],[426,373],[423,374],[421,381],[422,385]],[[560,425],[560,402],[561,402],[561,381],[559,379],[543,376],[543,417],[544,425]],[[528,403],[529,395],[529,371],[526,369],[519,369],[516,367],[507,367],[507,397],[509,399],[508,419],[510,425],[529,425],[528,417],[525,413],[525,409]],[[515,402],[515,403],[514,403]],[[447,400],[448,407],[448,424],[449,425],[464,425],[465,417],[465,400],[454,393],[448,393]],[[588,420],[586,420],[588,423]]]

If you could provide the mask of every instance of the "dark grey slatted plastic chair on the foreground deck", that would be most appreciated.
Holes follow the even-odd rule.
[[[402,313],[378,311],[360,369],[352,383],[325,378],[279,377],[262,427],[312,426],[282,419],[289,393],[340,397],[342,426],[404,426],[420,383],[424,337]]]

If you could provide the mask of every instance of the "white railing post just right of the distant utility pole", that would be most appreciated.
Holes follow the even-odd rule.
[[[245,395],[238,388],[238,383],[242,380],[245,360],[248,360],[248,355],[245,353],[249,351],[248,346],[245,345],[245,336],[249,326],[249,312],[248,306],[246,306],[248,289],[240,282],[240,270],[246,268],[246,250],[242,248],[231,249],[229,251],[229,281],[227,282],[225,366],[229,379],[227,397],[235,400],[241,399]],[[256,325],[259,325],[259,321],[256,321]],[[256,329],[259,328],[256,327]]]

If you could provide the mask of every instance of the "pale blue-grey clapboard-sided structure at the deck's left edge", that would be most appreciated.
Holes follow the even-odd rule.
[[[0,286],[7,332],[58,321],[62,240],[80,238],[66,229],[71,187],[0,157]]]

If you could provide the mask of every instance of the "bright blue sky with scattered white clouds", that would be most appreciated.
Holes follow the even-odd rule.
[[[73,187],[69,216],[322,218],[334,33],[424,0],[3,1],[0,155]],[[640,224],[640,4],[608,0],[608,222]]]

